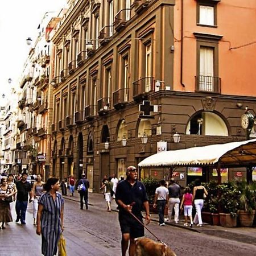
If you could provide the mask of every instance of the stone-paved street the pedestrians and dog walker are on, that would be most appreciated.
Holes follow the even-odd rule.
[[[68,255],[121,255],[121,232],[118,214],[106,212],[104,199],[98,201],[88,210],[80,210],[77,201],[65,199],[65,230]],[[114,209],[114,207],[113,207]],[[15,212],[13,211],[15,219]],[[256,254],[256,234],[253,229],[194,228],[197,232],[171,225],[158,226],[152,221],[149,228],[177,255],[247,255]],[[249,232],[247,231],[249,230]],[[200,233],[199,233],[199,232]],[[146,232],[146,236],[152,236]],[[36,236],[32,225],[32,205],[27,212],[27,225],[15,222],[0,230],[1,256],[37,256],[40,254],[40,237]]]

